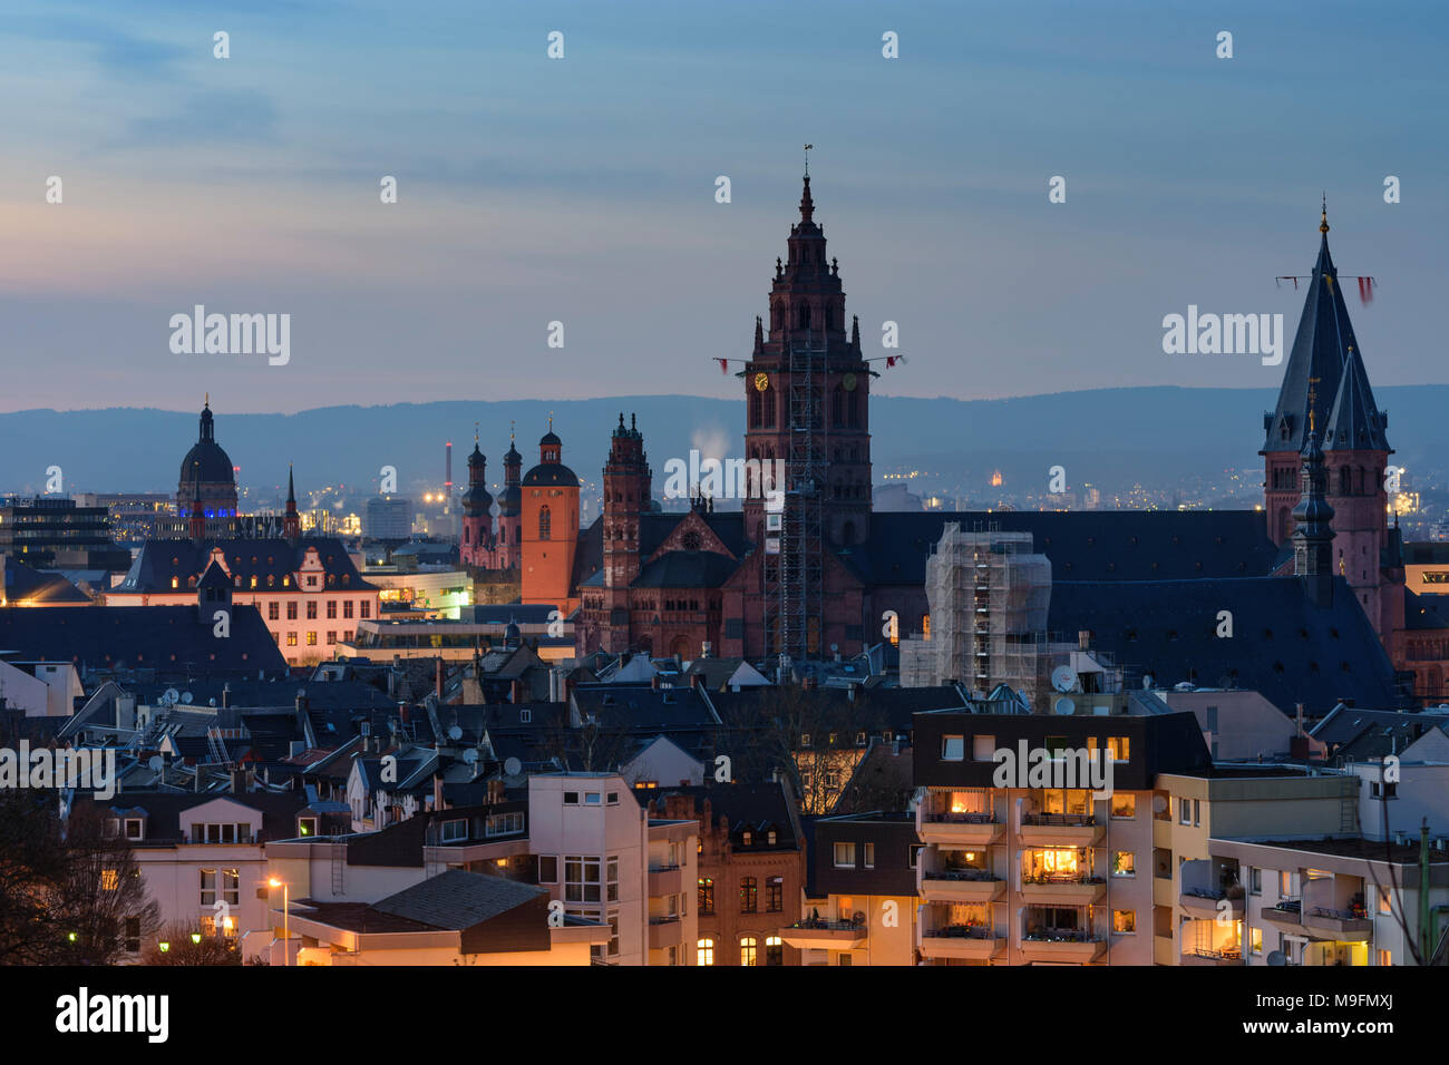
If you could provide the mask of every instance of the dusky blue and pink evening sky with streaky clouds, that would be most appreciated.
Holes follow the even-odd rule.
[[[1410,135],[1443,104],[1417,74],[1443,38],[1432,7],[1407,41],[1349,6],[1301,25],[1048,6],[1051,41],[1010,12],[930,4],[765,22],[155,10],[135,30],[65,4],[0,36],[0,87],[32,101],[0,161],[20,249],[0,274],[0,410],[732,396],[713,359],[748,355],[804,142],[862,339],[890,354],[895,322],[910,356],[880,394],[1271,387],[1252,356],[1164,354],[1162,319],[1197,306],[1291,329],[1300,297],[1274,278],[1308,271],[1324,191],[1345,271],[1378,281],[1355,304],[1374,380],[1446,380],[1430,313],[1445,207],[1423,191],[1443,149]],[[1390,46],[1387,75],[1356,72]],[[42,70],[65,90],[38,93]],[[1324,94],[1301,90],[1324,75]],[[197,304],[290,314],[288,361],[174,354],[168,323]]]

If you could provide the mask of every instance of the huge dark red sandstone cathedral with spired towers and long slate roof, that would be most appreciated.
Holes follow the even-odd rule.
[[[565,517],[578,513],[578,478],[552,432],[519,483],[522,506],[507,513],[520,523],[509,535],[522,601],[577,609],[581,653],[801,661],[859,653],[897,626],[929,633],[926,559],[961,523],[1030,532],[1052,562],[1051,630],[1088,633],[1143,675],[1256,687],[1290,707],[1308,693],[1310,711],[1323,713],[1339,700],[1401,704],[1449,682],[1449,662],[1423,651],[1449,643],[1449,630],[1406,607],[1403,545],[1388,523],[1388,417],[1349,322],[1326,210],[1277,409],[1264,417],[1262,509],[1003,513],[872,511],[877,374],[846,316],[809,175],[798,210],[738,375],[745,455],[782,461],[781,506],[752,493],[732,513],[706,500],[662,513],[643,432],[623,414],[590,527]],[[481,507],[483,493],[468,506]],[[487,522],[465,536],[475,551],[504,546]],[[1248,619],[1256,639],[1213,639],[1220,610]],[[1406,610],[1420,620],[1406,627]]]

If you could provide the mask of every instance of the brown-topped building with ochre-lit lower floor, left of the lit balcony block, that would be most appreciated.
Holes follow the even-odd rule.
[[[920,843],[909,813],[819,817],[800,920],[780,937],[801,965],[911,965],[916,961],[916,874]]]

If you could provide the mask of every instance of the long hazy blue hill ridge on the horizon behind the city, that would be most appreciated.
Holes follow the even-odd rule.
[[[1436,468],[1446,454],[1449,385],[1379,388],[1390,412],[1395,461]],[[920,468],[969,477],[1001,469],[1013,478],[1046,478],[1064,465],[1071,484],[1103,488],[1140,483],[1166,487],[1187,477],[1214,475],[1261,462],[1262,412],[1272,390],[1101,388],[1010,400],[917,400],[880,396],[871,401],[877,474]],[[503,475],[509,423],[517,423],[525,469],[536,461],[548,413],[564,439],[564,462],[584,481],[598,481],[609,433],[636,413],[645,448],[664,481],[668,458],[703,452],[740,454],[740,400],[697,396],[620,396],[600,400],[510,400],[381,407],[319,407],[298,414],[216,413],[217,442],[241,467],[243,485],[268,498],[296,464],[298,487],[345,484],[375,488],[378,469],[397,467],[404,493],[443,478],[443,443],[454,443],[454,481],[468,480],[474,422],[488,456],[488,480]],[[59,465],[65,491],[175,491],[181,458],[197,436],[197,412],[116,407],[26,410],[0,414],[0,493],[43,488],[45,469]]]

